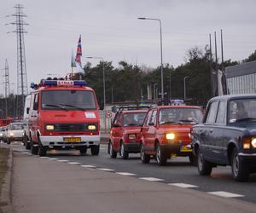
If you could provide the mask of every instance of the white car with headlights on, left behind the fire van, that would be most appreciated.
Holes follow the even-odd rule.
[[[6,141],[8,144],[10,144],[11,141],[22,141],[23,134],[23,123],[10,123],[6,132]]]

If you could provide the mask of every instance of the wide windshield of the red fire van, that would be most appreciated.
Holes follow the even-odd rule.
[[[42,109],[47,110],[96,110],[96,100],[91,91],[42,91],[41,100]]]

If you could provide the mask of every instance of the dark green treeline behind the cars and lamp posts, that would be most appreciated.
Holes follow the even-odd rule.
[[[207,49],[207,48],[206,48]],[[256,60],[256,50],[246,60]],[[224,66],[239,64],[239,61],[224,61]],[[99,104],[103,103],[102,70],[105,69],[106,79],[106,102],[140,101],[148,97],[148,85],[151,85],[152,96],[154,89],[158,89],[160,98],[160,67],[148,68],[128,64],[125,61],[119,62],[115,68],[110,61],[101,61],[92,67],[90,63],[84,66],[82,78],[89,83],[89,86],[96,90]],[[183,98],[183,79],[186,78],[186,97],[192,99],[192,104],[205,106],[212,97],[211,91],[211,61],[204,49],[189,49],[186,55],[186,62],[174,68],[169,64],[164,65],[164,92],[165,99]],[[212,63],[212,69],[216,64]],[[218,64],[218,67],[221,67]]]

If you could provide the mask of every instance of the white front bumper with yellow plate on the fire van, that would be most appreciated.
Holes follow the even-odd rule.
[[[80,147],[100,144],[100,135],[68,135],[68,136],[40,136],[43,146],[47,147]]]

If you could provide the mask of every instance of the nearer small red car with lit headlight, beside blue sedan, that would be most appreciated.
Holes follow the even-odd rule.
[[[201,123],[200,107],[158,106],[151,108],[142,127],[141,159],[148,164],[154,156],[159,165],[171,156],[187,156],[194,163],[191,150],[190,128]]]

